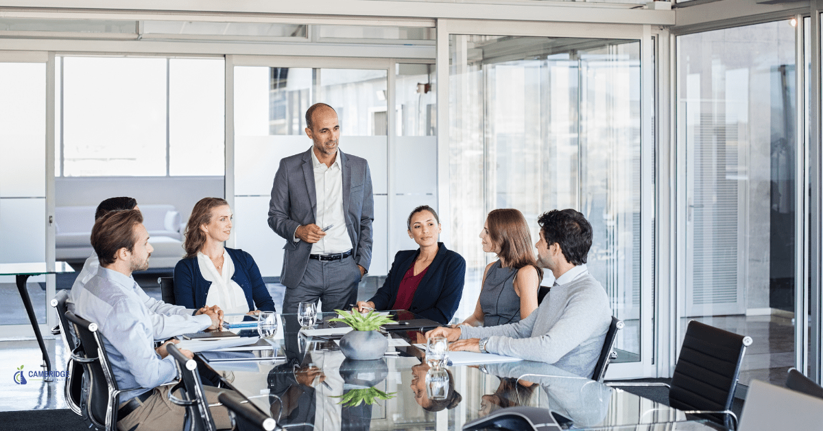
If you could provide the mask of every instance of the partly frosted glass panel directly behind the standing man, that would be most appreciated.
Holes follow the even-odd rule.
[[[311,148],[305,111],[323,102],[337,111],[340,150],[369,162],[374,193],[370,275],[388,272],[388,116],[385,69],[235,67],[235,241],[264,277],[279,277],[285,240],[267,224],[281,158]]]

